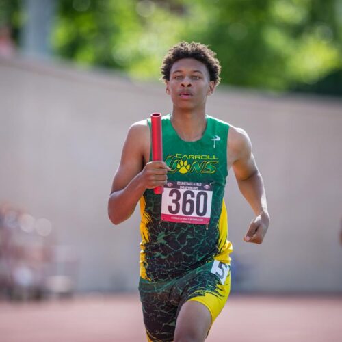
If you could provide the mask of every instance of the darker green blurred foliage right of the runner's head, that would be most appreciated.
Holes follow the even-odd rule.
[[[213,18],[196,32],[196,38],[217,51],[224,83],[309,90],[326,75],[342,69],[342,27],[337,20],[342,17],[337,14],[338,6],[342,10],[341,1],[213,3],[208,6],[205,0],[196,1],[198,10]]]

